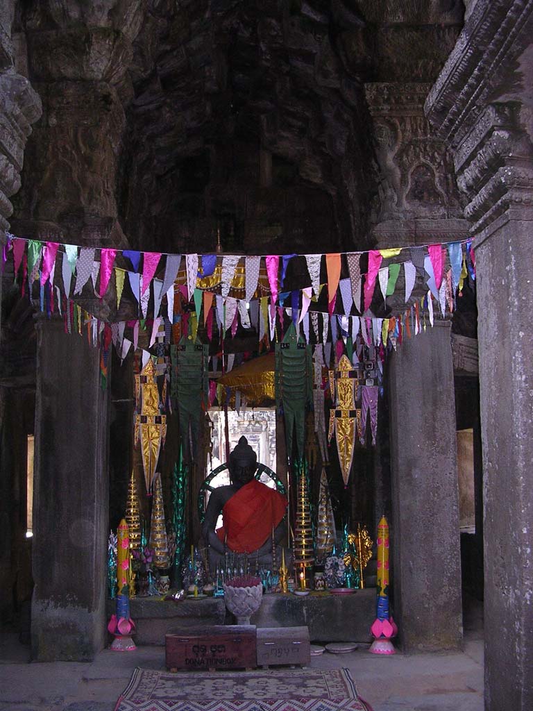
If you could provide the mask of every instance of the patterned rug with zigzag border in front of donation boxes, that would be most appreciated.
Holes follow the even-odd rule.
[[[178,672],[137,668],[115,711],[372,711],[348,669]]]

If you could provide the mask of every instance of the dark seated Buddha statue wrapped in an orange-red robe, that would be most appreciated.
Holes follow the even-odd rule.
[[[246,437],[230,453],[228,469],[231,483],[212,491],[205,511],[202,533],[210,547],[210,563],[216,565],[228,552],[247,554],[251,563],[269,566],[273,545],[286,534],[287,500],[254,479],[257,454]],[[220,513],[223,524],[215,530]]]

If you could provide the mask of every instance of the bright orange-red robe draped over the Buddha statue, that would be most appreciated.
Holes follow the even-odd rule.
[[[252,479],[236,491],[222,508],[223,525],[217,536],[235,553],[252,553],[271,536],[287,508],[286,498]]]

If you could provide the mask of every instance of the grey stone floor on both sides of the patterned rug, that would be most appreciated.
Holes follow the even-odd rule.
[[[30,663],[16,634],[1,634],[0,711],[112,711],[136,666],[162,669],[164,662],[163,647],[144,646],[130,653],[105,650],[92,663]],[[311,666],[350,669],[374,711],[483,711],[479,630],[465,633],[458,653],[382,657],[360,646],[313,657]]]

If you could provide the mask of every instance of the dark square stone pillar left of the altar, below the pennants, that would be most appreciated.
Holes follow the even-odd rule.
[[[97,348],[36,326],[32,655],[90,661],[106,641],[108,391]]]

